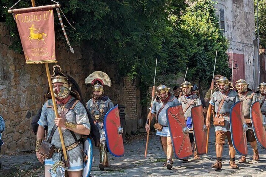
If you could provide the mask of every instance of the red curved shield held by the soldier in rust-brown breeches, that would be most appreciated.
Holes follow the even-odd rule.
[[[230,110],[231,139],[237,153],[246,156],[248,151],[246,132],[243,130],[244,124],[243,104],[242,101],[238,101]]]

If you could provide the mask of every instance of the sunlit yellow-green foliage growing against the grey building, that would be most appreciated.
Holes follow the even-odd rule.
[[[221,33],[215,8],[211,0],[199,0],[182,16],[181,28],[190,34],[189,60],[187,66],[195,68],[193,79],[208,86],[212,79],[215,53],[217,53],[215,73],[230,76],[226,50],[228,43]]]

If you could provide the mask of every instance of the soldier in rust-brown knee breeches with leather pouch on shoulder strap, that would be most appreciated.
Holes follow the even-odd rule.
[[[230,83],[226,77],[220,77],[216,81],[218,90],[215,91],[210,100],[211,109],[213,110],[214,125],[215,125],[215,149],[216,149],[216,163],[211,167],[215,169],[222,168],[222,153],[223,146],[225,144],[225,137],[228,139],[229,151],[230,151],[230,168],[236,169],[237,165],[235,164],[235,154],[236,150],[233,147],[231,140],[231,130],[230,130],[230,109],[239,101],[239,96],[237,92],[232,90]],[[220,123],[221,121],[224,124]],[[216,122],[219,122],[216,124]],[[207,117],[206,126],[210,128],[210,121]]]

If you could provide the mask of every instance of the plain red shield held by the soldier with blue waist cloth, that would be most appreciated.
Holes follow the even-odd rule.
[[[202,105],[192,107],[190,113],[197,152],[200,155],[206,154],[207,127],[204,123]]]

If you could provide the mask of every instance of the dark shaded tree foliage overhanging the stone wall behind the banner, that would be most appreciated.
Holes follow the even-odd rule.
[[[18,32],[7,8],[16,1],[1,0],[2,21],[11,27],[14,37],[13,49],[21,51]],[[36,5],[51,4],[48,0],[36,0]],[[63,12],[76,28],[69,27],[63,18],[71,44],[86,43],[104,58],[105,62],[116,64],[121,76],[140,77],[144,83],[151,83],[156,57],[165,60],[162,43],[168,28],[170,15],[180,18],[185,9],[184,0],[62,0]],[[16,8],[31,7],[29,1],[21,1]],[[56,37],[64,36],[55,18]],[[160,68],[159,62],[158,68]],[[159,71],[159,69],[158,69]]]

